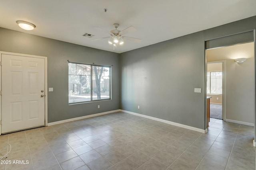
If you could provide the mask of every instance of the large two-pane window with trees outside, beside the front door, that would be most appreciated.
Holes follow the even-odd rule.
[[[111,67],[68,63],[68,103],[110,100]]]

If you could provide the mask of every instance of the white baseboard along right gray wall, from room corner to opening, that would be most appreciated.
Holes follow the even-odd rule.
[[[156,118],[156,117],[142,115],[142,114],[134,113],[134,112],[131,112],[131,111],[126,111],[126,110],[120,110],[120,111],[125,112],[125,113],[129,113],[129,114],[132,114],[132,115],[136,115],[136,116],[145,117],[145,118],[148,118],[148,119],[160,121],[160,122],[167,123],[167,124],[170,124],[170,125],[174,125],[174,126],[178,126],[178,127],[183,127],[185,129],[190,129],[190,130],[193,130],[193,131],[198,131],[200,133],[207,133],[207,129],[205,129],[205,130],[204,129],[199,129],[199,128],[196,128],[196,127],[187,126],[187,125],[183,125],[183,124],[180,124],[180,123],[175,123],[175,122],[164,120],[164,119],[159,119],[159,118]]]

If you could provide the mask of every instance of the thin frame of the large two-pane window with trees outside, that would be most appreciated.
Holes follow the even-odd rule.
[[[109,65],[100,65],[100,64],[88,64],[88,63],[79,63],[79,62],[72,62],[72,61],[68,61],[68,70],[69,70],[69,64],[83,64],[83,65],[90,65],[91,69],[90,69],[90,101],[83,101],[83,102],[73,102],[70,103],[69,102],[69,94],[68,94],[68,105],[73,105],[73,104],[84,104],[84,103],[91,103],[91,102],[99,102],[99,101],[104,101],[104,100],[112,100],[112,66]],[[105,99],[93,99],[93,66],[98,66],[98,67],[108,67],[109,68],[109,98],[105,98]],[[68,76],[73,75],[73,74],[69,74],[68,72]],[[79,76],[79,75],[78,75]],[[95,75],[94,75],[95,76]],[[68,80],[68,84],[69,84],[69,80]]]

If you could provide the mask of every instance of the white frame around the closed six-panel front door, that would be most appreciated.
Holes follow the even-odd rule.
[[[2,59],[2,57],[1,57],[2,54],[44,59],[44,87],[45,87],[45,98],[44,98],[45,112],[44,112],[44,115],[45,115],[45,126],[48,126],[47,57],[0,51],[0,61]],[[0,90],[2,90],[2,66],[0,66]],[[0,97],[0,121],[2,121],[2,96]],[[2,122],[1,122],[1,125],[0,125],[0,135],[1,134],[2,134]]]

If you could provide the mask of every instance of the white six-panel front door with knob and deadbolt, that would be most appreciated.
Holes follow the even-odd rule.
[[[45,125],[45,61],[2,54],[2,133]]]

